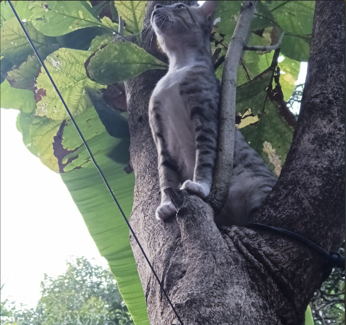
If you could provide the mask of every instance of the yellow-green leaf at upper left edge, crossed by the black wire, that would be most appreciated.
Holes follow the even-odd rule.
[[[47,45],[46,37],[31,22],[24,23],[24,27],[37,48]],[[3,22],[0,36],[1,55],[13,64],[21,64],[29,54],[34,53],[16,17]]]

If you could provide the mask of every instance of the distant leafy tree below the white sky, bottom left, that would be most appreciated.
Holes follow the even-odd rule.
[[[66,265],[66,273],[57,278],[45,274],[36,308],[18,309],[7,302],[11,308],[1,315],[1,325],[133,324],[109,269],[85,258]]]

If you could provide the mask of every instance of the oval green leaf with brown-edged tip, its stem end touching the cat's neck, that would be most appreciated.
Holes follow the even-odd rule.
[[[167,69],[164,62],[129,42],[108,44],[89,59],[89,78],[104,85],[134,78],[149,69]]]

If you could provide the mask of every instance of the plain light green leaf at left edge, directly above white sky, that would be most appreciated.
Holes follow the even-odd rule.
[[[30,90],[12,88],[7,80],[0,85],[1,108],[18,109],[25,113],[30,113],[35,110],[34,93]]]

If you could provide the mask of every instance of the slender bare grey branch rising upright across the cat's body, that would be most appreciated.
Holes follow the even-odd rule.
[[[226,201],[233,167],[237,70],[256,1],[244,1],[229,43],[221,83],[218,159],[208,202],[218,214]]]

